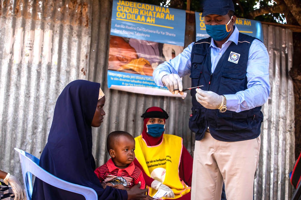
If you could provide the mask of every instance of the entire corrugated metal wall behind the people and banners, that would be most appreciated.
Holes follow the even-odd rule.
[[[107,134],[126,130],[138,136],[143,125],[140,116],[150,106],[166,109],[170,116],[166,133],[183,137],[193,154],[194,134],[188,128],[190,95],[185,99],[157,97],[107,88],[111,10],[111,0],[0,0],[0,169],[21,178],[14,147],[40,157],[56,99],[74,79],[100,82],[106,94],[104,123],[93,129],[97,165],[108,159]],[[192,29],[187,23],[186,36]],[[267,25],[263,29],[272,90],[262,108],[255,199],[290,199],[288,173],[294,162],[294,96],[288,74],[292,33]],[[187,45],[189,37],[185,38]],[[190,85],[189,77],[183,81]]]

